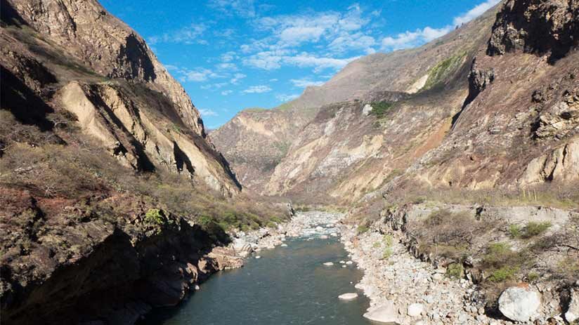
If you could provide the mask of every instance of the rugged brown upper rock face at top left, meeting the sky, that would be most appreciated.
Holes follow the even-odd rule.
[[[169,75],[145,41],[98,1],[7,0],[2,4],[12,6],[19,20],[63,46],[98,74],[143,81],[164,93],[174,102],[186,125],[204,136],[200,114],[183,87]]]

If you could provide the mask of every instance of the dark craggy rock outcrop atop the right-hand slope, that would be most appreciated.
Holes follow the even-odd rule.
[[[488,54],[552,53],[561,58],[579,40],[579,1],[509,0],[497,15]]]

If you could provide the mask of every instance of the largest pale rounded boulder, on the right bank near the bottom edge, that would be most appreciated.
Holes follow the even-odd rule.
[[[500,312],[512,321],[528,321],[540,305],[540,293],[521,286],[507,288],[499,298]]]

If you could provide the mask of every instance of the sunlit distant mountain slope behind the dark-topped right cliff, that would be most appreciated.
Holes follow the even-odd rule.
[[[471,60],[490,37],[495,11],[420,48],[355,60],[323,86],[308,87],[282,109],[240,116],[254,124],[239,124],[235,117],[211,137],[248,187],[264,194],[292,195],[307,189],[305,196],[310,198],[320,194],[324,200],[354,200],[384,183],[389,175],[400,173],[448,131],[468,93]],[[397,102],[397,109],[363,114],[365,105],[379,102]],[[292,113],[284,118],[281,112],[287,110]],[[303,118],[306,114],[308,119]],[[270,161],[268,170],[248,174],[262,164],[257,160],[259,154],[249,159],[246,151],[232,148],[242,145],[254,152],[271,151],[254,145],[268,137],[252,126],[259,124],[259,128],[275,132],[275,124],[290,124],[299,118],[307,124],[295,126],[291,137],[285,138],[292,143],[287,156],[280,159],[285,152],[278,151],[276,160],[272,159],[280,164],[273,169]],[[236,138],[234,133],[246,136]],[[422,147],[427,139],[429,144]]]

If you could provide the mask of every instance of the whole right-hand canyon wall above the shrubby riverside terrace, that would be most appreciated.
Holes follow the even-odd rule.
[[[212,137],[249,187],[298,200],[567,186],[579,179],[577,6],[535,2],[505,1],[441,39],[369,55],[306,89],[284,107],[310,118],[268,171],[246,174],[237,164],[245,152],[221,141],[232,132],[252,134],[245,143],[265,139],[253,124],[234,119]],[[275,132],[278,111],[252,117]]]

